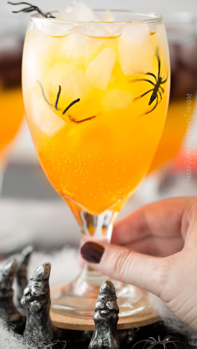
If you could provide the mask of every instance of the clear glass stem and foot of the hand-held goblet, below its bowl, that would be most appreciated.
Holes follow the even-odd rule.
[[[123,206],[123,201],[98,215],[88,213],[69,199],[66,201],[79,223],[83,242],[90,240],[111,242],[113,225],[120,211],[120,206]],[[53,309],[92,316],[100,285],[106,279],[108,279],[107,275],[102,275],[85,263],[80,275],[73,282],[62,287],[60,291],[53,292]],[[120,316],[135,313],[147,307],[147,304],[140,303],[144,297],[143,291],[119,281],[113,280],[113,283],[118,297]]]

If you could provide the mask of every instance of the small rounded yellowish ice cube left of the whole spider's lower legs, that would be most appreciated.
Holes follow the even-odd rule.
[[[113,89],[105,93],[103,97],[104,111],[122,110],[133,102],[133,97],[129,91]]]

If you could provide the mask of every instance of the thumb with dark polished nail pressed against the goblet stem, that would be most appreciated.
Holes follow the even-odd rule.
[[[152,257],[113,244],[87,242],[83,259],[115,280],[135,285],[160,297],[170,271],[170,257]]]

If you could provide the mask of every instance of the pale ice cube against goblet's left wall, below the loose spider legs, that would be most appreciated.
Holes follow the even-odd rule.
[[[66,122],[34,91],[31,94],[31,115],[38,129],[48,137],[53,137],[66,125]]]

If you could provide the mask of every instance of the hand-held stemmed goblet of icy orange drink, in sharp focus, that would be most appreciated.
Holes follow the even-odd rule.
[[[113,14],[113,22],[75,23],[31,16],[22,69],[26,116],[46,176],[83,237],[107,242],[150,166],[170,85],[162,17]],[[72,266],[62,266],[62,277],[64,268]],[[54,291],[53,309],[92,315],[104,278],[84,265],[76,280]],[[118,281],[115,287],[121,316],[148,306],[142,290]]]

